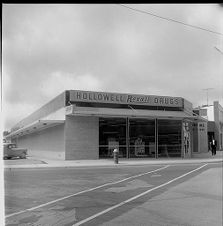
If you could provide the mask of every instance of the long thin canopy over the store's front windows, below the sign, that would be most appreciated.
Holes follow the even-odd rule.
[[[199,116],[189,115],[183,111],[161,111],[161,110],[142,110],[126,108],[93,108],[77,107],[70,105],[66,109],[66,115],[76,116],[109,116],[109,117],[143,117],[143,118],[160,118],[160,119],[187,119],[193,121],[206,121]]]

